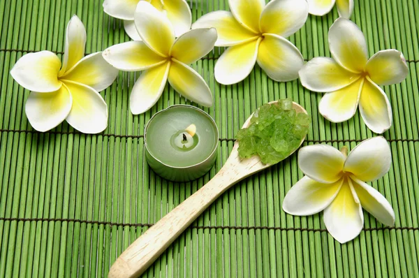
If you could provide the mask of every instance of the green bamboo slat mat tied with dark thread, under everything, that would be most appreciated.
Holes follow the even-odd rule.
[[[0,1],[0,277],[105,277],[130,242],[215,175],[244,119],[267,101],[291,97],[304,105],[313,118],[305,145],[355,147],[374,136],[358,112],[332,124],[318,113],[321,94],[297,80],[273,82],[258,66],[237,85],[217,84],[219,48],[194,65],[214,92],[214,106],[205,110],[221,133],[216,166],[199,180],[168,182],[147,166],[145,123],[168,105],[189,102],[166,87],[152,110],[131,115],[128,99],[138,73],[119,73],[101,93],[110,109],[103,134],[87,136],[68,124],[34,131],[24,115],[29,92],[13,81],[10,69],[27,52],[51,50],[61,57],[73,14],[87,28],[87,53],[128,41],[122,22],[105,15],[101,2]],[[196,20],[228,5],[193,0],[191,8]],[[336,18],[336,8],[309,16],[290,38],[304,59],[330,56],[328,29]],[[410,68],[406,81],[385,87],[394,124],[384,136],[393,161],[388,175],[372,184],[394,207],[395,227],[366,213],[360,236],[339,244],[321,214],[285,214],[282,200],[302,177],[294,155],[224,193],[145,277],[419,277],[419,1],[355,0],[352,20],[367,36],[370,54],[396,48]]]

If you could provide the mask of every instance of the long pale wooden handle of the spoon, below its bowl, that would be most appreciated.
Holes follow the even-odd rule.
[[[138,237],[110,268],[108,277],[138,277],[169,245],[230,186],[239,179],[222,168],[210,182],[166,214]]]

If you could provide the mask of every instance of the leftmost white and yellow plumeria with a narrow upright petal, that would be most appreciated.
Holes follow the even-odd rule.
[[[74,15],[68,22],[63,64],[50,51],[20,58],[10,74],[31,90],[26,115],[37,131],[48,131],[64,119],[82,133],[99,133],[108,126],[108,105],[98,93],[117,78],[118,70],[96,52],[84,57],[86,30]],[[61,70],[60,70],[61,68]]]

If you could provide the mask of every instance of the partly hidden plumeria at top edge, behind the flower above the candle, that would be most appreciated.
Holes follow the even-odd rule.
[[[124,20],[126,34],[134,41],[141,41],[134,23],[135,8],[140,1],[151,3],[154,8],[166,15],[175,29],[175,36],[178,37],[191,29],[191,9],[185,0],[105,0],[103,10],[112,17]]]

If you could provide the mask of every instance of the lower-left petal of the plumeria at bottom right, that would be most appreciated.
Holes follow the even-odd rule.
[[[324,210],[335,199],[343,179],[333,184],[322,184],[303,177],[286,193],[282,209],[293,215],[311,215]]]

